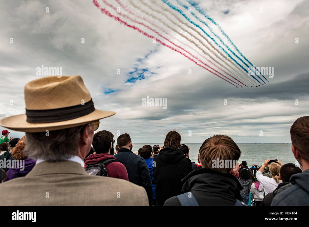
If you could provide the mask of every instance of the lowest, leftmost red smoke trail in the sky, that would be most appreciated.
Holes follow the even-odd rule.
[[[129,25],[128,23],[126,23],[125,21],[121,20],[119,17],[114,16],[113,14],[111,14],[108,10],[101,8],[101,6],[99,5],[99,3],[96,0],[92,0],[93,4],[99,9],[101,10],[102,13],[104,13],[105,15],[108,15],[110,18],[115,19],[116,21],[120,22],[121,24],[124,24],[125,26],[132,28],[133,30],[138,31],[139,33],[145,35],[148,38],[155,38],[152,35],[149,35],[148,33],[146,33],[145,31],[142,31],[141,29],[139,29],[138,27],[135,27],[133,25]],[[235,84],[232,84],[230,81],[227,81],[226,79],[222,78],[221,76],[217,75],[216,73],[210,71],[208,68],[205,68],[204,66],[202,66],[201,64],[198,64],[195,60],[193,60],[192,58],[190,58],[188,55],[185,55],[184,53],[180,52],[179,50],[176,50],[175,48],[171,47],[170,45],[167,45],[166,43],[163,43],[161,40],[156,39],[156,41],[158,41],[161,45],[168,47],[174,51],[176,51],[177,53],[180,53],[181,55],[185,56],[186,58],[188,58],[189,60],[193,61],[196,65],[200,66],[201,68],[206,69],[207,71],[213,73],[214,75],[220,77],[222,80],[225,80],[226,82],[230,83],[231,85],[234,85],[235,87],[237,87]],[[234,82],[235,83],[235,82]],[[238,88],[238,87],[237,87]]]

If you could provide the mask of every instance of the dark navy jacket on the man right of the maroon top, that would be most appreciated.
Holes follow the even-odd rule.
[[[152,184],[148,166],[141,156],[135,155],[126,148],[121,148],[114,157],[125,165],[129,181],[145,188],[149,205],[153,205]]]

